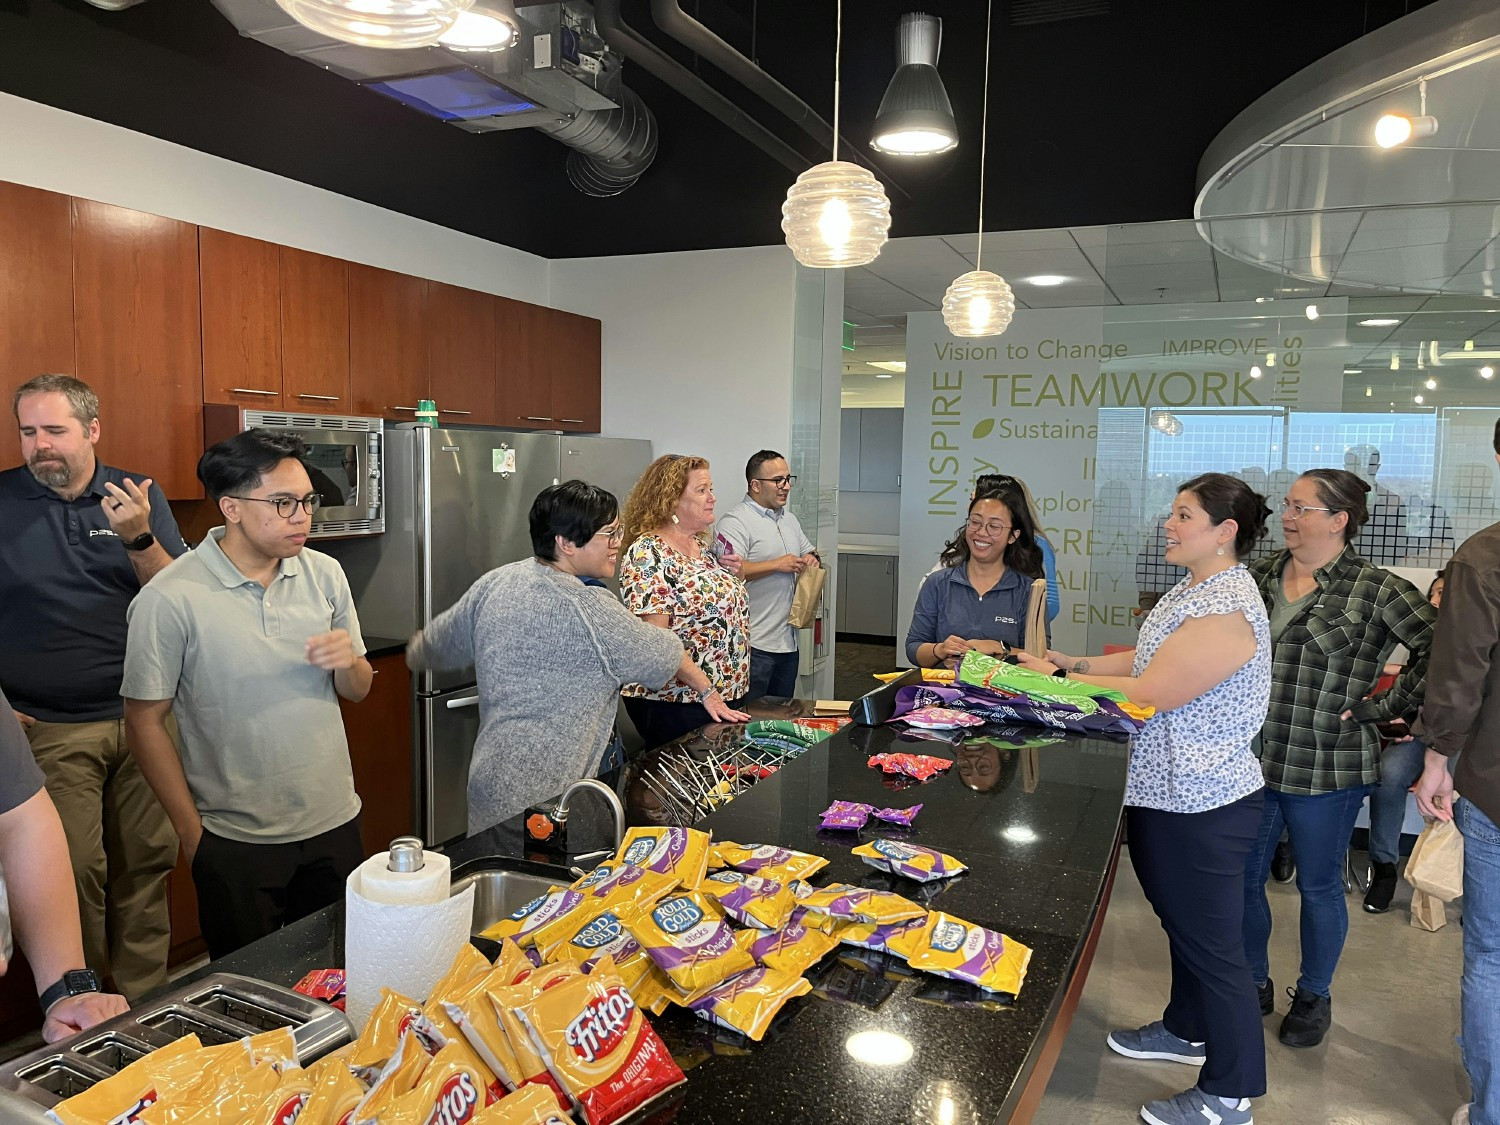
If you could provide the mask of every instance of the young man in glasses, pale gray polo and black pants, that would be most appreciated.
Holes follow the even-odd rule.
[[[260,429],[204,453],[225,526],[130,604],[130,753],[182,838],[212,957],[338,900],[363,860],[338,696],[363,699],[374,674],[344,570],[304,549],[304,453]]]

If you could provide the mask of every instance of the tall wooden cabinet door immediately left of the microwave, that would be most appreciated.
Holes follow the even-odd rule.
[[[198,500],[202,334],[198,228],[74,200],[78,378],[99,393],[99,456]]]

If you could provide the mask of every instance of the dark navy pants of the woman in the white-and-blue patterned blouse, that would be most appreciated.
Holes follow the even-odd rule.
[[[1221,1098],[1266,1092],[1266,1044],[1245,958],[1245,861],[1264,798],[1206,813],[1125,810],[1130,858],[1172,946],[1167,1030],[1208,1044],[1198,1089]]]

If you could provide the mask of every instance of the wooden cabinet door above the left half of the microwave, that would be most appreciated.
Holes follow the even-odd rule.
[[[202,400],[280,410],[280,248],[198,228]]]

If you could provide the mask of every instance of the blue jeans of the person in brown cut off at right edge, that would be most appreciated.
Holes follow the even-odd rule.
[[[1454,808],[1464,834],[1464,1020],[1458,1040],[1474,1101],[1470,1125],[1500,1125],[1500,826],[1472,801]]]

